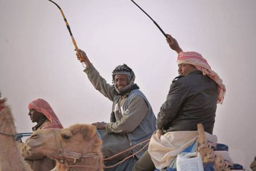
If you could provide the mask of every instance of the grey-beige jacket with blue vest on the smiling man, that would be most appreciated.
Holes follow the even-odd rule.
[[[106,131],[114,134],[126,134],[127,143],[131,146],[149,139],[156,129],[156,118],[144,94],[135,89],[122,96],[115,95],[113,93],[114,86],[107,84],[92,64],[87,66],[84,72],[93,86],[110,101],[113,101],[110,123],[107,123]],[[141,146],[133,149],[133,153],[139,149]],[[136,156],[140,158],[143,153],[144,151]]]

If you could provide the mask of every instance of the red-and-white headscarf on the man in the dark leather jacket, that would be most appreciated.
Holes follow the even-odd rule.
[[[210,69],[210,65],[207,60],[201,56],[200,53],[197,52],[180,52],[177,57],[177,64],[191,64],[196,67],[196,69],[200,70],[203,75],[207,75],[218,85],[218,100],[217,103],[221,103],[224,100],[224,95],[226,92],[225,85],[222,83],[221,78],[218,76],[216,72]]]

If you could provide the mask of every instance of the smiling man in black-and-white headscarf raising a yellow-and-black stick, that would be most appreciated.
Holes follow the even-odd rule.
[[[93,123],[98,130],[105,130],[105,134],[102,136],[104,143],[102,152],[104,156],[110,157],[115,153],[150,139],[156,129],[156,119],[147,98],[139,90],[137,84],[134,84],[135,74],[133,70],[126,64],[117,66],[112,72],[113,85],[110,85],[100,76],[100,73],[94,68],[85,52],[79,49],[77,59],[80,56],[82,57],[82,62],[86,65],[84,72],[92,82],[92,85],[113,102],[110,122]],[[135,154],[134,157],[114,168],[105,170],[131,170],[135,162],[146,151],[144,149],[138,152],[141,148],[142,145],[129,152],[128,155]],[[120,151],[120,149],[122,150]],[[118,156],[118,159],[105,162],[105,165],[116,164],[122,159],[123,157]]]

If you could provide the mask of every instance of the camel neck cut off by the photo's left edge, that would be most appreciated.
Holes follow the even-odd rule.
[[[11,109],[5,104],[6,101],[7,99],[1,99],[0,94],[0,170],[30,171],[31,168],[24,161],[14,139],[16,128]]]

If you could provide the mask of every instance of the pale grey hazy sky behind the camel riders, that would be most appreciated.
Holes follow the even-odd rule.
[[[226,85],[214,134],[234,162],[256,156],[256,1],[137,0],[184,51],[208,60]],[[115,66],[133,68],[155,114],[177,76],[176,53],[129,0],[56,0],[79,48],[111,83]],[[46,99],[64,127],[109,121],[112,103],[88,81],[59,9],[47,0],[0,0],[0,90],[18,132],[30,132],[27,105]]]

